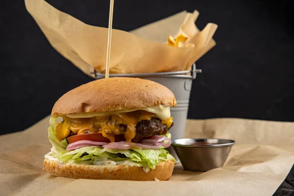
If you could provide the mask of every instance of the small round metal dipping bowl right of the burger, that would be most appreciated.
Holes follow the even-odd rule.
[[[172,141],[172,147],[184,169],[197,172],[221,168],[234,144],[234,140],[226,139],[177,139]]]

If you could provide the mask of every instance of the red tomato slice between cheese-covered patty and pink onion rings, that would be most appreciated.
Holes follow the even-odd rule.
[[[107,142],[107,143],[110,142],[110,140],[103,137],[103,135],[101,133],[86,133],[86,134],[73,135],[71,137],[68,137],[67,140],[70,144],[77,142],[77,141],[80,141],[80,140],[89,140],[89,141],[93,141],[93,142]],[[123,137],[123,135],[116,135],[114,138],[114,141],[115,142],[125,141],[125,138]],[[134,138],[134,139],[132,139],[132,142],[140,143],[141,138]]]

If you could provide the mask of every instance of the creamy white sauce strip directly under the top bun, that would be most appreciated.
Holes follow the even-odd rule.
[[[147,112],[155,114],[157,118],[164,121],[171,117],[171,107],[164,107],[162,105],[154,106],[154,107],[147,107],[147,108],[140,108],[140,109],[124,109],[124,110],[116,110],[112,112],[89,112],[89,113],[82,113],[82,114],[68,114],[67,117],[70,118],[91,118],[95,116],[108,116],[111,114],[116,113],[125,113],[125,112],[132,112],[136,110],[145,110]]]

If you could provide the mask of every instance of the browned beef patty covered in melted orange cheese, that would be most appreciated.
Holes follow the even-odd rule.
[[[134,138],[165,135],[172,125],[172,117],[162,121],[144,110],[92,118],[74,119],[64,116],[63,121],[57,124],[56,135],[62,141],[74,135],[100,133],[104,137],[103,141],[116,142],[120,139],[135,142],[138,140]],[[71,138],[69,142],[70,140]]]

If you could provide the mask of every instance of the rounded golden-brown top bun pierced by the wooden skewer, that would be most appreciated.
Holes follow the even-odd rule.
[[[157,105],[176,106],[172,91],[150,80],[130,77],[99,79],[81,85],[59,98],[53,117],[88,112],[110,112]]]

